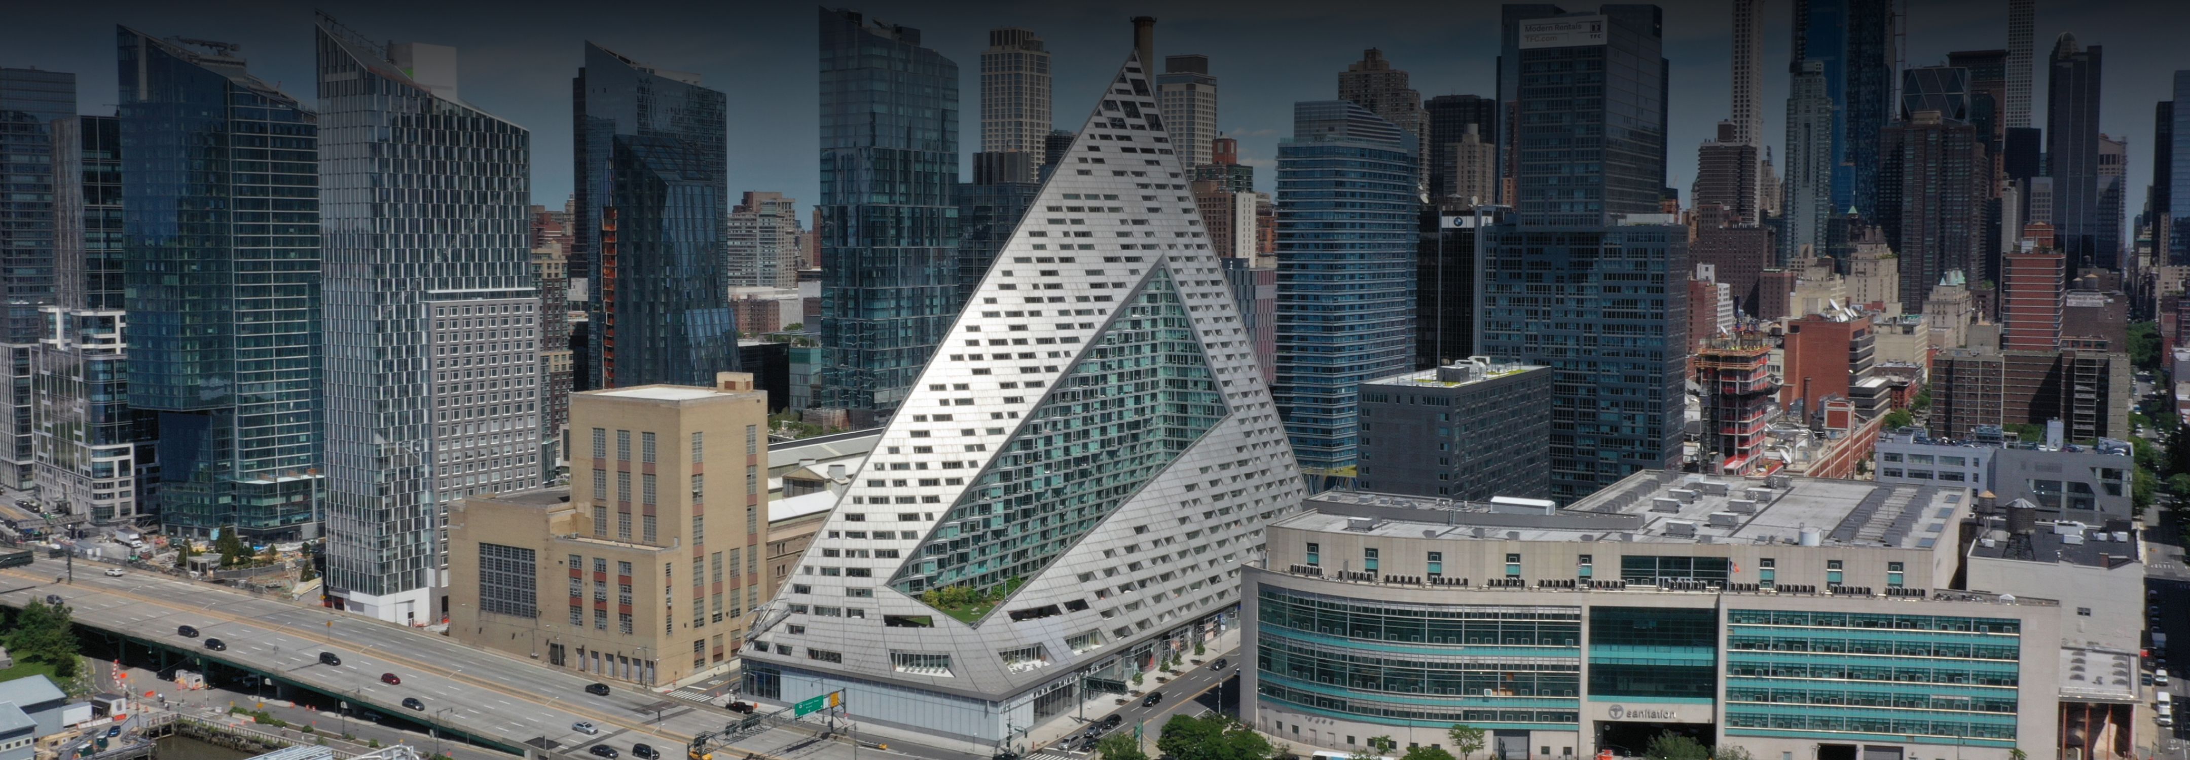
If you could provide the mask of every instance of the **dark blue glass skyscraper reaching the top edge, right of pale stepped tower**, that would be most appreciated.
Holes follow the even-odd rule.
[[[1894,118],[1894,85],[1901,81],[1897,39],[1901,15],[1897,0],[1846,0],[1848,2],[1848,83],[1842,110],[1846,112],[1846,197],[1835,184],[1835,210],[1855,208],[1864,217],[1875,217],[1879,204],[1879,171],[1883,164],[1879,134]]]

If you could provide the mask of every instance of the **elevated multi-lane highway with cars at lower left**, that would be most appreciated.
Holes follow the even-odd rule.
[[[442,635],[379,620],[153,574],[110,578],[101,569],[77,563],[74,585],[55,585],[53,578],[64,574],[59,561],[9,567],[0,572],[0,604],[22,607],[59,594],[81,626],[258,670],[366,703],[383,716],[438,725],[512,749],[576,758],[596,742],[626,753],[633,742],[646,742],[675,758],[690,736],[734,718],[727,710],[666,699],[626,683],[613,683],[609,696],[593,696],[585,692],[593,681],[580,672],[466,648]],[[177,635],[184,624],[201,635]],[[228,650],[206,650],[204,642],[210,637],[226,642]],[[322,650],[337,655],[342,666],[322,664]],[[403,683],[381,683],[381,672],[394,672]],[[405,710],[405,696],[420,699],[425,710]],[[600,734],[574,732],[576,721],[591,721]]]

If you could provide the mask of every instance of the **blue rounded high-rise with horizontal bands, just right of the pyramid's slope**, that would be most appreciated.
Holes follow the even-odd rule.
[[[1360,383],[1415,368],[1417,156],[1353,101],[1294,103],[1277,147],[1272,396],[1310,473],[1353,467]]]

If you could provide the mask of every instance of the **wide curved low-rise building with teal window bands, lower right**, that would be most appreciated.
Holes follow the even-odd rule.
[[[1465,723],[1511,760],[1664,732],[1785,760],[2126,756],[2137,543],[1980,513],[1971,488],[1669,471],[1566,508],[1325,493],[1246,572],[1242,718],[1296,751]]]

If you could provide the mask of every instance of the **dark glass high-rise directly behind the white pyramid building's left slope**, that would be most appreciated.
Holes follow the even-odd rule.
[[[918,28],[821,11],[821,405],[854,425],[898,410],[957,313],[957,107]]]

